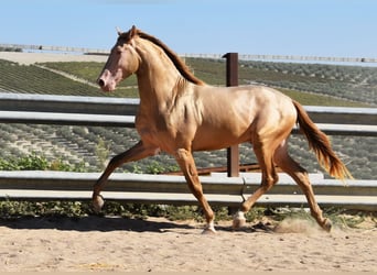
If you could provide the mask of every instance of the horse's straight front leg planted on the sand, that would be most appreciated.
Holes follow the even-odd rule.
[[[175,160],[179,163],[188,185],[190,190],[195,196],[200,205],[202,206],[206,219],[206,227],[203,233],[215,233],[215,215],[212,210],[208,201],[203,195],[202,184],[200,182],[196,165],[192,153],[185,148],[176,151]]]

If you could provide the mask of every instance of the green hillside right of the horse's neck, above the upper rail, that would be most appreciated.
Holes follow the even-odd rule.
[[[225,84],[225,62],[186,58],[195,75],[208,84]],[[377,106],[377,68],[323,64],[271,63],[240,61],[239,85],[262,84],[282,88],[304,105],[317,105],[324,96],[331,106],[347,106],[337,99]],[[300,91],[300,92],[297,92]],[[312,97],[308,97],[308,92]],[[316,95],[315,97],[313,96]]]

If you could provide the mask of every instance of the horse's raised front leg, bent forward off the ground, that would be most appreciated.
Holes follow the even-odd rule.
[[[100,191],[104,188],[104,185],[107,183],[107,179],[111,175],[111,173],[118,168],[120,165],[129,162],[134,162],[142,160],[147,156],[154,155],[159,152],[159,148],[153,146],[146,146],[142,141],[137,143],[134,146],[129,148],[128,151],[116,155],[111,158],[109,164],[107,165],[103,175],[98,178],[97,183],[93,187],[93,207],[96,212],[99,212],[104,206],[103,196],[100,196]]]

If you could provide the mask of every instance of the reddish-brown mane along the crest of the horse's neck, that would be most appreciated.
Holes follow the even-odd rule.
[[[119,35],[119,37],[126,38],[127,41],[131,40],[133,35],[139,35],[140,38],[148,40],[162,48],[162,51],[168,55],[168,57],[172,61],[176,69],[181,73],[181,75],[188,81],[196,84],[196,85],[204,85],[204,81],[198,79],[194,76],[194,74],[190,70],[186,64],[172,51],[170,50],[163,42],[161,42],[159,38],[142,32],[141,30],[136,29],[132,26],[132,29],[127,32]]]

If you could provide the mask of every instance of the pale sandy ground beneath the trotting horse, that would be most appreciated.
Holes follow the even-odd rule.
[[[261,226],[260,226],[261,224]],[[201,234],[203,224],[163,218],[0,220],[4,272],[377,271],[377,228],[325,233],[302,220]]]

